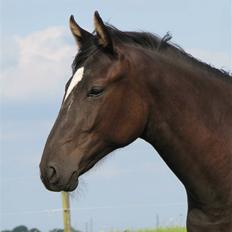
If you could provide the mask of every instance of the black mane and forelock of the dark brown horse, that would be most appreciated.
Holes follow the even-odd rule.
[[[178,58],[182,58],[182,60],[186,60],[191,64],[197,64],[198,67],[209,71],[219,77],[224,77],[225,79],[232,80],[230,74],[223,69],[217,69],[205,62],[202,62],[190,54],[186,53],[181,47],[178,45],[171,43],[170,40],[172,36],[167,33],[163,38],[160,38],[157,35],[154,35],[149,32],[135,32],[135,31],[120,31],[112,25],[107,25],[107,29],[111,35],[111,38],[115,44],[125,43],[133,46],[142,47],[145,49],[150,49],[156,52],[160,52],[162,54],[167,54],[169,56],[174,56],[173,60]],[[79,50],[76,55],[72,69],[75,71],[80,64],[83,64],[84,61],[91,55],[93,55],[98,50],[98,47],[92,41],[87,42],[85,46]]]

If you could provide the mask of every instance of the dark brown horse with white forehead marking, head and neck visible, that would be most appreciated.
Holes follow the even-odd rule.
[[[79,46],[41,178],[72,191],[78,177],[138,137],[186,188],[189,232],[232,231],[232,79],[150,33],[122,32],[96,12],[95,33],[70,18]]]

